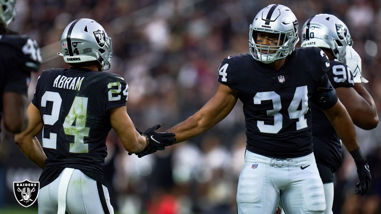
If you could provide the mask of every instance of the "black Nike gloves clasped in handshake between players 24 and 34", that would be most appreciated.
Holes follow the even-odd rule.
[[[141,152],[135,153],[139,158],[149,155],[151,153],[156,152],[157,150],[165,150],[164,147],[172,145],[176,142],[176,138],[174,138],[175,134],[170,132],[155,132],[156,129],[160,128],[160,124],[156,124],[151,128],[147,129],[144,132],[141,132],[139,129],[135,128],[139,134],[144,135],[148,139],[147,147]],[[132,153],[128,153],[131,155]]]

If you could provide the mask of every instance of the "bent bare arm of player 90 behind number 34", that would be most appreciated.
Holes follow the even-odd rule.
[[[374,129],[378,125],[375,101],[362,83],[355,83],[354,86],[336,88],[337,96],[356,126],[366,130]]]

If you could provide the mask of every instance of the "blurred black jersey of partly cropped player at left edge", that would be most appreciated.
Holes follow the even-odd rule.
[[[40,69],[41,55],[37,42],[27,35],[0,35],[0,50],[0,112],[3,112],[3,93],[27,95],[30,72]]]

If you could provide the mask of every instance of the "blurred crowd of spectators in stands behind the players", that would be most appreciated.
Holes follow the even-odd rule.
[[[365,86],[380,112],[380,0],[17,0],[16,21],[10,29],[37,40],[43,57],[41,73],[69,67],[57,55],[69,22],[96,20],[112,38],[114,53],[107,72],[127,81],[127,110],[134,125],[145,130],[161,123],[159,131],[165,131],[213,96],[221,61],[248,53],[249,25],[259,10],[272,3],[290,7],[299,30],[319,13],[334,14],[347,24],[362,58],[363,76],[369,80]],[[32,74],[29,100],[38,75]],[[356,168],[344,151],[344,164],[336,173],[335,214],[381,213],[381,125],[357,132],[372,173],[371,189],[363,197],[354,194]],[[41,172],[14,145],[11,134],[1,134],[0,209],[19,206],[13,181],[37,181]],[[111,204],[123,214],[234,214],[245,141],[240,101],[207,133],[143,158],[128,156],[111,131],[105,161]]]

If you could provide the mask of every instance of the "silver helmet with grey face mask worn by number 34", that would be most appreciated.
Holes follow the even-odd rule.
[[[258,45],[256,43],[258,32],[278,34],[278,45]],[[266,64],[282,59],[295,50],[295,45],[299,41],[298,34],[298,19],[290,8],[279,4],[269,5],[256,14],[253,24],[250,25],[249,50],[251,56]],[[283,43],[280,44],[282,39]],[[270,48],[274,47],[277,48],[277,51],[270,54]],[[267,53],[262,53],[263,50],[267,50]]]

